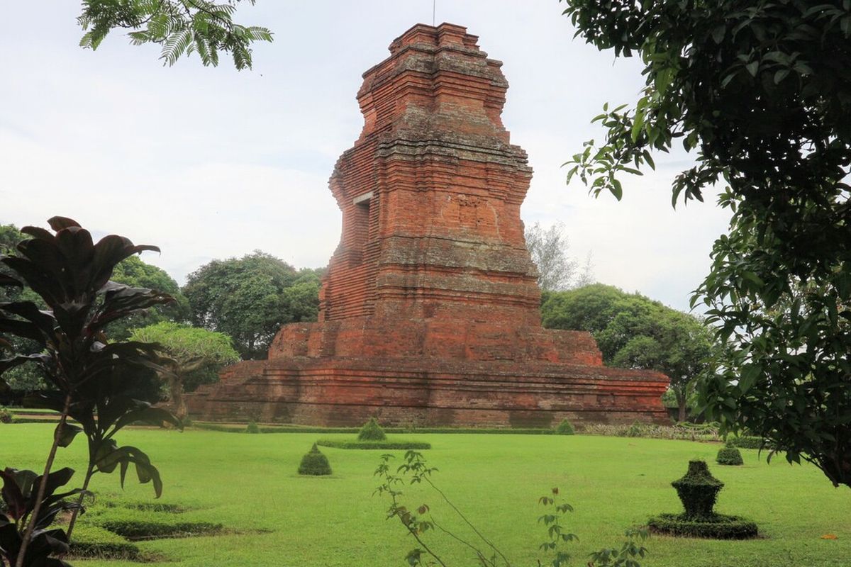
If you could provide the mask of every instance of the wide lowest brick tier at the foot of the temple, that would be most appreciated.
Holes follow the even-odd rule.
[[[522,373],[518,370],[521,370]],[[258,360],[189,394],[191,417],[357,426],[553,427],[571,422],[668,422],[667,378],[604,366],[513,361]]]

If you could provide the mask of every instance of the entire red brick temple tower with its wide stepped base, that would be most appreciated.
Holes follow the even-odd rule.
[[[319,320],[188,396],[192,417],[315,425],[664,422],[668,379],[603,366],[540,325],[520,205],[532,170],[505,82],[464,27],[418,25],[363,75],[365,118],[330,188],[343,213]]]

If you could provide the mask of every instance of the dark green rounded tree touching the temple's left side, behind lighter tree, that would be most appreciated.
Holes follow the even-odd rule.
[[[282,325],[316,320],[320,272],[255,251],[203,265],[183,292],[193,325],[233,337],[243,359],[260,359]]]

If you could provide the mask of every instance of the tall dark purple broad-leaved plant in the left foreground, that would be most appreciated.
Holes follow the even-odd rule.
[[[24,513],[6,513],[8,519],[0,519],[0,533],[3,533],[0,559],[14,567],[66,564],[50,556],[67,551],[66,542],[77,513],[82,509],[83,491],[88,489],[94,473],[111,473],[118,469],[123,485],[127,470],[133,464],[140,482],[152,482],[156,495],[160,496],[163,484],[148,456],[136,447],[119,446],[114,436],[133,422],[172,423],[180,427],[180,422],[170,412],[153,408],[150,402],[140,399],[144,398],[146,388],[157,380],[157,371],[163,364],[164,359],[157,354],[158,345],[107,343],[103,332],[111,321],[172,301],[164,293],[110,281],[112,269],[124,258],[159,249],[135,246],[117,235],[105,236],[95,244],[89,231],[70,218],[54,217],[48,222],[55,234],[37,227],[25,227],[21,232],[32,238],[20,242],[18,255],[0,259],[20,276],[19,281],[0,275],[0,286],[26,284],[48,306],[42,310],[28,301],[0,303],[0,333],[30,339],[42,349],[37,353],[15,353],[0,360],[0,388],[5,386],[4,371],[35,363],[42,367],[54,391],[30,396],[25,399],[25,405],[60,414],[44,473],[31,483],[26,482],[30,476],[26,472],[7,469],[3,475],[3,500],[7,509],[19,510],[21,498],[28,502]],[[69,418],[79,426],[70,423]],[[50,474],[56,451],[70,445],[81,432],[89,442],[89,465],[79,489],[80,500],[71,507],[71,524],[67,534],[59,536],[61,530],[53,530],[50,532],[53,535],[45,536],[49,539],[44,541],[49,545],[38,543],[55,515],[44,509],[52,509],[56,504],[51,495],[58,485],[51,481],[54,475]],[[63,476],[65,481],[59,485],[66,484],[73,473],[71,469],[63,471],[67,471],[67,478]],[[25,480],[21,484],[13,482],[12,477]],[[19,497],[15,486],[26,496]],[[12,536],[13,529],[17,536]],[[55,541],[60,543],[54,544]],[[64,546],[60,545],[63,541]]]

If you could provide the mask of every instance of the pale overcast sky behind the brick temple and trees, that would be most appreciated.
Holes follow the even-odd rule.
[[[78,2],[3,0],[0,35],[0,224],[76,218],[95,235],[157,244],[146,253],[181,284],[212,258],[261,249],[296,267],[328,263],[340,212],[328,177],[363,126],[361,74],[393,38],[431,24],[432,0],[258,0],[237,20],[271,28],[254,70],[194,58],[174,67],[156,46],[114,32],[77,47]],[[594,199],[560,167],[603,103],[632,102],[637,61],[614,63],[580,39],[556,0],[437,0],[437,22],[466,26],[511,84],[503,114],[534,179],[523,221],[561,222],[572,255],[593,254],[598,281],[679,309],[709,266],[728,214],[712,201],[671,208],[688,156],[624,180],[625,196]],[[34,30],[37,30],[34,31]]]

